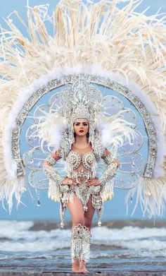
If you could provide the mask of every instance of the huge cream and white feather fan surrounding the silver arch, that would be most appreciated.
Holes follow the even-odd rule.
[[[1,30],[0,46],[0,199],[7,200],[9,210],[13,195],[19,203],[25,189],[24,176],[12,155],[16,119],[23,114],[27,100],[47,83],[69,74],[88,73],[125,85],[151,115],[158,136],[157,160],[153,178],[142,178],[137,198],[150,216],[162,215],[166,200],[165,15],[136,13],[139,1],[133,0],[120,10],[119,2],[62,0],[52,16],[48,6],[28,6],[29,38],[10,18],[6,20],[9,30]],[[46,20],[52,24],[52,36],[46,30]],[[147,189],[151,191],[148,200]]]

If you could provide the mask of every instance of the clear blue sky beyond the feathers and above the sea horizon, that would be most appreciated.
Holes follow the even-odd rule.
[[[98,2],[98,1],[94,1]],[[124,1],[122,1],[124,2]],[[56,7],[58,1],[55,0],[29,0],[30,6],[37,6],[43,4],[49,4],[49,12],[52,13]],[[26,4],[27,0],[0,0],[0,25],[6,27],[3,18],[6,18],[13,11],[18,11],[22,18],[26,22]],[[121,6],[123,5],[120,4]],[[143,11],[147,7],[147,15],[156,13],[159,8],[160,12],[166,11],[166,0],[143,0],[138,11]],[[24,32],[24,30],[23,30]],[[13,210],[11,215],[5,211],[0,205],[0,219],[3,220],[60,220],[59,219],[59,203],[54,203],[52,200],[47,198],[47,192],[42,191],[40,193],[41,207],[37,207],[37,198],[34,193],[34,200],[30,196],[30,193],[24,193],[22,197],[23,204],[20,205],[16,210],[15,202],[13,204]],[[141,209],[137,208],[136,213],[133,217],[126,214],[125,208],[125,194],[126,192],[120,189],[115,190],[115,198],[105,203],[103,220],[130,220],[130,219],[141,219]],[[131,203],[131,207],[134,202]],[[70,216],[67,212],[67,220],[70,220]],[[147,218],[147,217],[146,217]],[[163,217],[166,219],[166,217]]]

